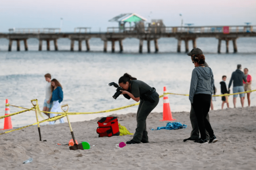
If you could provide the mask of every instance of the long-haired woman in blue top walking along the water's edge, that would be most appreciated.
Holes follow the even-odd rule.
[[[55,78],[51,80],[51,88],[52,88],[52,98],[47,101],[47,103],[52,103],[52,109],[51,112],[62,112],[61,105],[63,100],[63,91],[62,86],[58,80]],[[60,114],[58,114],[60,115]],[[50,113],[50,118],[56,116],[56,114]],[[64,123],[64,119],[59,119],[60,123]],[[50,122],[50,124],[54,124],[55,121]]]

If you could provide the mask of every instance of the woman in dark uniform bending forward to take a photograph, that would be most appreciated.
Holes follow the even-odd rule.
[[[148,143],[148,132],[146,130],[146,118],[150,112],[157,106],[159,102],[159,95],[155,88],[148,86],[148,84],[137,80],[130,74],[125,73],[120,77],[118,84],[124,90],[120,90],[125,98],[132,98],[136,102],[140,101],[137,111],[137,128],[133,139],[127,141],[126,144]]]

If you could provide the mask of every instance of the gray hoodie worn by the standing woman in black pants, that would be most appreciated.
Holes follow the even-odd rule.
[[[195,94],[212,94],[213,93],[213,74],[210,67],[196,67],[192,71],[189,100],[193,103]]]

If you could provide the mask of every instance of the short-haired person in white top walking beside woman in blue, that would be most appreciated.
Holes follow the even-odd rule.
[[[44,108],[43,108],[43,111],[46,111],[46,112],[50,112],[51,108],[52,108],[52,103],[47,103],[47,101],[49,99],[52,98],[52,88],[51,88],[51,74],[47,73],[44,75],[44,78],[46,80],[46,92],[45,92],[45,99],[44,99]],[[50,114],[48,113],[44,113],[46,114],[49,118],[50,118]]]

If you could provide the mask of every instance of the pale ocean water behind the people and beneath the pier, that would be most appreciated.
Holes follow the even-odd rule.
[[[163,87],[168,92],[188,94],[190,88],[191,73],[194,68],[189,56],[185,54],[185,45],[182,42],[182,52],[176,53],[177,40],[174,38],[161,38],[158,40],[159,52],[154,53],[154,44],[151,42],[151,53],[147,53],[147,44],[144,41],[143,53],[139,54],[139,40],[125,39],[123,41],[124,52],[119,53],[119,45],[116,42],[116,52],[112,53],[111,43],[108,42],[108,52],[103,51],[103,42],[100,39],[90,40],[90,52],[85,52],[83,42],[82,52],[78,52],[78,44],[75,51],[70,52],[70,40],[58,40],[59,51],[55,52],[53,42],[51,50],[46,51],[46,42],[43,51],[38,51],[38,40],[29,39],[28,49],[24,51],[21,42],[21,51],[16,51],[16,42],[13,42],[12,52],[8,52],[8,40],[0,39],[0,110],[4,115],[5,99],[10,104],[31,108],[30,100],[38,99],[40,109],[43,108],[45,97],[44,74],[50,73],[63,86],[63,104],[69,105],[69,112],[98,112],[136,103],[119,96],[112,98],[116,88],[108,86],[110,82],[118,83],[118,79],[124,73],[129,73],[156,88],[158,94],[163,94]],[[189,43],[190,50],[192,42]],[[214,73],[216,94],[220,94],[222,76],[226,75],[228,86],[230,76],[236,70],[237,64],[248,68],[252,79],[256,76],[256,38],[238,38],[238,53],[233,54],[233,46],[230,42],[230,53],[226,54],[226,44],[222,42],[221,52],[217,54],[218,40],[215,38],[198,38],[197,47],[201,48],[206,56],[206,62]],[[232,92],[232,86],[231,86]],[[256,84],[252,81],[252,89]],[[172,112],[190,111],[188,96],[168,95]],[[233,107],[232,96],[230,106]],[[221,109],[221,98],[214,101],[214,110]],[[241,107],[237,98],[237,107]],[[247,99],[244,106],[248,106]],[[256,106],[256,92],[251,94],[251,106]],[[224,106],[226,108],[226,105]],[[71,115],[71,122],[91,120],[110,114],[127,114],[136,112],[138,106],[108,112],[102,114]],[[163,100],[153,112],[162,112]],[[10,107],[10,112],[21,111],[20,108]],[[173,115],[174,116],[174,115]],[[44,116],[46,118],[46,116]],[[41,120],[41,118],[40,118]],[[26,126],[36,122],[35,112],[25,112],[12,116],[14,127]],[[65,118],[65,122],[67,122]],[[59,121],[57,121],[59,123]],[[0,128],[4,119],[0,120]],[[42,123],[42,125],[48,122]]]

